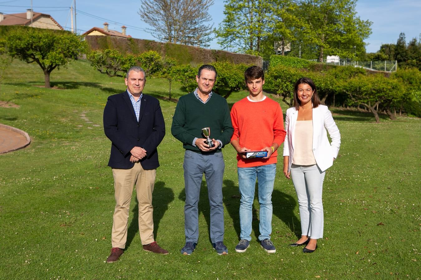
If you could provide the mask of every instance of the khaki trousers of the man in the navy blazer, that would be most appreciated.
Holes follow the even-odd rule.
[[[139,162],[131,169],[112,169],[114,176],[115,209],[112,224],[112,247],[124,249],[127,241],[127,224],[133,186],[139,202],[139,234],[142,245],[154,242],[152,192],[156,169],[144,170]]]

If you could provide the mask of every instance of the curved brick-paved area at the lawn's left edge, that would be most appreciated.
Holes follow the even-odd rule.
[[[31,143],[28,133],[0,123],[0,154],[16,151]]]

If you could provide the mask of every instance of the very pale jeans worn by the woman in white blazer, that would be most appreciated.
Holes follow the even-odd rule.
[[[291,165],[291,178],[298,197],[301,235],[323,237],[322,190],[325,172],[315,165]]]

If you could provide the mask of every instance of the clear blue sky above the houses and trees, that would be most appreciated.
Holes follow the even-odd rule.
[[[32,0],[35,12],[50,14],[63,27],[70,28],[69,7],[73,0]],[[117,4],[118,3],[118,4]],[[77,29],[80,33],[93,26],[102,27],[104,21],[109,23],[109,29],[121,31],[121,26],[127,26],[127,34],[134,38],[154,39],[145,30],[148,26],[141,21],[137,13],[140,0],[125,0],[121,2],[112,0],[76,0]],[[0,12],[20,13],[31,7],[31,0],[0,0]],[[214,27],[224,19],[224,1],[215,0],[209,7]],[[87,15],[86,13],[90,14]],[[400,32],[405,32],[406,41],[421,33],[421,1],[420,0],[359,0],[357,13],[363,20],[373,22],[372,34],[365,40],[368,43],[367,52],[376,52],[381,44],[396,43]],[[133,27],[131,27],[133,26]],[[210,48],[221,47],[214,39]]]

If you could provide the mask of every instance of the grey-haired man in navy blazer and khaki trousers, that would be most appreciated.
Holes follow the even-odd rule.
[[[152,192],[159,167],[157,147],[164,138],[165,123],[159,101],[143,94],[145,83],[144,70],[133,66],[125,77],[127,90],[109,96],[104,108],[104,132],[112,142],[108,166],[112,168],[116,201],[107,262],[116,262],[123,254],[134,185],[143,249],[168,254],[155,242],[152,218]]]

